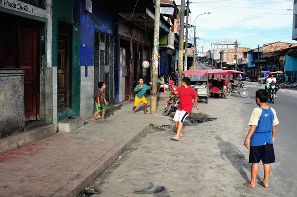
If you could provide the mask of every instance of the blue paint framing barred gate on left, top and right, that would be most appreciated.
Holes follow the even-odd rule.
[[[81,50],[80,65],[94,66],[94,33],[102,32],[114,36],[114,99],[119,102],[119,60],[118,60],[118,25],[117,13],[111,5],[104,5],[101,1],[93,0],[92,14],[85,10],[86,1],[80,0]],[[87,77],[87,76],[86,76]]]

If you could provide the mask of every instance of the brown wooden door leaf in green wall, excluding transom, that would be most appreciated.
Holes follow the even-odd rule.
[[[68,102],[68,36],[58,34],[58,98],[57,108],[63,110],[69,107]]]

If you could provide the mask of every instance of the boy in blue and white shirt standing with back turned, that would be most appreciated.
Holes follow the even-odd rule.
[[[267,105],[269,98],[268,91],[260,89],[256,92],[256,103],[259,107],[254,108],[248,125],[250,129],[245,140],[245,147],[249,149],[249,163],[251,165],[251,180],[244,185],[255,188],[256,177],[259,171],[259,162],[264,165],[264,179],[258,184],[268,188],[268,178],[270,175],[270,163],[275,162],[274,138],[279,121],[276,112]]]

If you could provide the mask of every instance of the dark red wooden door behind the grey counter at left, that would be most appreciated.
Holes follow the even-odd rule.
[[[37,119],[37,29],[20,27],[19,65],[25,69],[25,120]]]

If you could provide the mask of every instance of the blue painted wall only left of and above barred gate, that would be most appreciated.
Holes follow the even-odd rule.
[[[81,66],[94,65],[94,31],[115,35],[115,14],[99,1],[93,0],[93,10],[86,11],[86,1],[80,0]]]

